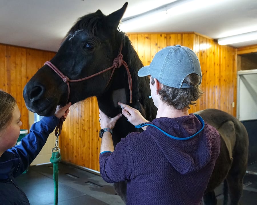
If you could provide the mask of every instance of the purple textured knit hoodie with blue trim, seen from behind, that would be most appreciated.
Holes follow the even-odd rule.
[[[153,124],[179,138],[194,135],[202,123],[194,114],[157,118]],[[205,122],[189,140],[175,140],[155,127],[133,132],[100,154],[100,171],[108,183],[128,180],[128,205],[201,204],[220,153],[220,135]]]

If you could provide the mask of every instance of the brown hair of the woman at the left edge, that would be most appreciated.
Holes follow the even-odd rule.
[[[0,131],[11,123],[15,105],[14,97],[0,90]]]

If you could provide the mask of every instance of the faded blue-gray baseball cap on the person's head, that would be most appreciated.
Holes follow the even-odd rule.
[[[200,62],[196,54],[185,46],[167,46],[157,52],[150,63],[142,67],[139,77],[151,75],[163,85],[174,88],[190,88],[192,85],[182,83],[186,76],[196,73],[202,81]]]

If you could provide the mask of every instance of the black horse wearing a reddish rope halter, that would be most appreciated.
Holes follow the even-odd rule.
[[[156,117],[156,107],[148,99],[149,79],[137,77],[142,62],[126,34],[117,29],[126,7],[127,3],[108,16],[98,10],[77,20],[53,59],[39,69],[25,86],[23,97],[29,110],[50,116],[57,105],[68,101],[74,104],[96,96],[99,108],[110,117],[121,112],[118,100],[138,109],[148,120]],[[129,72],[125,69],[126,62]],[[74,81],[81,78],[86,79]],[[247,166],[246,129],[236,118],[220,110],[207,109],[199,114],[222,137],[220,156],[204,202],[216,204],[214,188],[225,180],[224,187],[230,193],[231,204],[238,204]],[[133,131],[136,131],[134,126],[123,116],[113,130],[114,145]],[[115,184],[115,189],[126,201],[126,183]],[[227,191],[224,198],[227,199]]]

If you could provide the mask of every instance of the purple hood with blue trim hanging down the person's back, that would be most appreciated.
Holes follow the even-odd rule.
[[[202,128],[202,123],[194,114],[179,118],[156,118],[145,132],[153,138],[171,165],[181,174],[196,172],[205,167],[211,159],[212,129],[205,123],[203,130],[188,140],[176,140],[162,131],[178,137],[187,138]],[[161,131],[162,130],[162,131]]]

